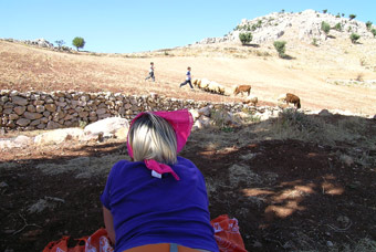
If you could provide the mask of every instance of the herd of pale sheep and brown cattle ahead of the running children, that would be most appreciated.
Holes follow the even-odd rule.
[[[209,81],[208,78],[194,78],[192,80],[192,84],[200,88],[206,92],[210,92],[210,93],[215,93],[215,94],[221,94],[224,95],[224,86],[213,82],[213,81]],[[243,101],[244,104],[253,104],[255,106],[255,104],[258,103],[258,97],[254,95],[251,95],[251,85],[238,85],[233,88],[233,95],[238,95],[238,94],[243,94],[247,93],[247,98]],[[282,94],[278,97],[278,102],[284,102],[288,105],[289,104],[294,104],[294,106],[297,108],[301,108],[301,99],[300,97],[297,97],[294,94],[291,93],[286,93],[286,94]]]

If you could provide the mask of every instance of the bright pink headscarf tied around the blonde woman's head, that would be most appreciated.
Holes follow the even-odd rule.
[[[166,119],[174,128],[176,134],[176,141],[177,141],[177,153],[179,153],[182,147],[186,145],[187,139],[190,135],[190,130],[194,125],[194,117],[187,109],[181,111],[174,111],[174,112],[150,112],[161,118]],[[130,123],[129,129],[132,128],[133,124],[136,119],[138,119],[142,115],[146,114],[145,112],[139,113]],[[127,148],[128,154],[133,158],[133,149],[129,145],[129,134],[127,137]],[[152,175],[154,177],[159,177],[163,174],[171,174],[176,180],[180,180],[178,175],[173,170],[171,167],[165,164],[160,164],[154,159],[146,159],[144,160],[145,165],[148,169],[152,170]]]

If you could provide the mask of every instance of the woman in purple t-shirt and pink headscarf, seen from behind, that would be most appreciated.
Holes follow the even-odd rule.
[[[178,156],[194,125],[187,111],[144,112],[130,123],[130,160],[117,161],[101,196],[115,252],[219,252],[205,178]]]

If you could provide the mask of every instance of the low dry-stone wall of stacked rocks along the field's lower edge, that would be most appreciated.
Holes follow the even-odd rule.
[[[255,107],[241,103],[209,103],[177,99],[152,93],[127,95],[121,93],[84,93],[56,91],[52,93],[0,91],[0,127],[10,130],[33,130],[75,127],[98,119],[119,116],[133,118],[144,111],[198,109],[206,106],[228,112]]]

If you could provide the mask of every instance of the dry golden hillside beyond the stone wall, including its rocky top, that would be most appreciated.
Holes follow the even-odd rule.
[[[310,18],[307,14],[311,14]],[[316,35],[320,30],[312,30],[311,27],[317,27],[325,17],[327,22],[333,23],[333,17],[317,17],[312,11],[271,15],[274,18],[242,21],[242,25],[272,19],[281,23],[272,27],[281,27],[276,32],[279,38],[271,35],[271,25],[261,27],[254,31],[254,41],[260,43],[249,46],[228,40],[154,52],[100,54],[55,52],[3,40],[0,41],[0,88],[129,94],[155,92],[177,98],[239,102],[241,97],[234,97],[231,88],[239,84],[251,84],[252,94],[259,97],[260,104],[274,105],[280,94],[290,92],[301,97],[302,107],[306,109],[375,113],[376,39],[362,35],[358,43],[353,44],[347,33],[331,30],[327,38],[318,34],[318,46],[314,46],[311,44],[312,34]],[[302,18],[295,15],[304,15],[305,24],[300,23]],[[352,22],[351,25],[358,27],[357,31],[363,34],[364,29],[361,28],[365,24]],[[237,32],[240,31],[229,34],[236,38]],[[258,34],[267,34],[272,40]],[[274,39],[288,42],[286,54],[290,60],[278,57],[272,45]],[[144,81],[150,61],[156,65],[156,83]],[[179,90],[178,84],[185,80],[188,65],[192,67],[194,77],[206,77],[224,85],[227,95],[190,91],[188,86]]]

